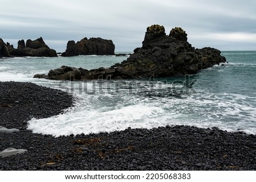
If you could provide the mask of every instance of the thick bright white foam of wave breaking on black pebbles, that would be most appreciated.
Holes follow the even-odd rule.
[[[106,108],[96,110],[72,111],[64,115],[28,122],[28,129],[36,133],[53,134],[54,136],[79,134],[79,133],[99,133],[123,130],[129,126],[141,128],[145,126],[146,120],[156,121],[157,117],[163,114],[163,109],[159,107],[148,107],[137,104],[104,111]],[[103,110],[103,111],[101,111]],[[148,126],[151,127],[151,126]]]

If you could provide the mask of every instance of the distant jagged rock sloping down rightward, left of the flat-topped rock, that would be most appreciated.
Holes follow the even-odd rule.
[[[11,56],[31,56],[31,57],[56,57],[57,53],[55,50],[50,49],[42,37],[36,40],[28,39],[26,41],[19,40],[18,48],[15,49],[13,45],[7,45]]]

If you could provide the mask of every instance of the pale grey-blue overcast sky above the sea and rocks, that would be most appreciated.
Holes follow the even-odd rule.
[[[146,28],[181,27],[196,48],[256,50],[256,1],[247,0],[0,0],[0,38],[43,37],[64,52],[68,40],[111,39],[115,52],[142,46]]]

